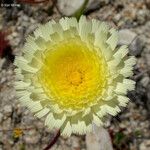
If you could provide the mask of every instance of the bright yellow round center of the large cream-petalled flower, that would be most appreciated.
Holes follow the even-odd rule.
[[[76,38],[62,41],[44,54],[38,78],[54,103],[80,110],[97,101],[107,83],[107,65],[100,52]]]

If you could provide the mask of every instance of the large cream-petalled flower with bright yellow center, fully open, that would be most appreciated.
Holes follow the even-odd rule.
[[[27,38],[16,56],[15,88],[22,105],[61,135],[85,134],[129,101],[136,60],[117,47],[118,32],[82,16],[50,21]]]

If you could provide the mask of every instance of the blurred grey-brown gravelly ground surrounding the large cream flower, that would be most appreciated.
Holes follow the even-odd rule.
[[[81,14],[118,29],[118,44],[137,58],[131,101],[105,124],[113,149],[150,150],[150,0],[0,0],[0,150],[42,150],[55,135],[18,103],[14,56],[39,24]],[[85,136],[72,135],[59,138],[52,150],[91,149]]]

